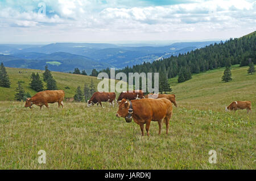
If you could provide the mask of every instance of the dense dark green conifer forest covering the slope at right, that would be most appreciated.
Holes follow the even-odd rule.
[[[201,49],[195,49],[191,52],[179,54],[179,56],[171,56],[152,63],[144,62],[141,65],[126,67],[116,70],[115,73],[123,72],[144,72],[144,73],[166,73],[168,78],[180,75],[179,82],[191,79],[191,74],[201,73],[207,70],[213,70],[226,66],[226,62],[232,65],[240,64],[240,66],[249,65],[249,60],[256,63],[256,31],[239,39],[232,39],[219,44],[211,44]],[[100,72],[106,72],[110,76],[110,69],[104,69]],[[161,79],[161,77],[160,77]]]

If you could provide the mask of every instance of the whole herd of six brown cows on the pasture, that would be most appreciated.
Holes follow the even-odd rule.
[[[63,90],[47,90],[38,92],[31,98],[26,100],[25,107],[32,108],[35,104],[42,108],[48,103],[58,103],[58,107],[63,107],[65,93]],[[87,106],[93,104],[100,104],[101,102],[109,102],[110,106],[114,107],[115,92],[95,92],[88,100]],[[172,103],[177,107],[174,94],[148,94],[144,95],[142,90],[124,91],[119,95],[117,102],[119,109],[117,117],[124,117],[127,123],[132,119],[141,127],[142,136],[144,135],[144,124],[146,124],[147,136],[149,136],[149,128],[151,121],[158,121],[159,134],[161,133],[162,120],[166,123],[166,133],[168,134],[168,127],[172,117]],[[234,101],[226,107],[226,111],[230,110],[243,110],[246,109],[247,113],[251,111],[250,101]]]

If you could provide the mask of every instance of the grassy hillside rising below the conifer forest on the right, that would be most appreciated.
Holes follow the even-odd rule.
[[[202,110],[208,110],[209,107],[214,107],[221,111],[233,100],[251,100],[254,107],[256,74],[247,74],[247,66],[240,68],[239,65],[233,65],[231,70],[233,80],[224,83],[221,82],[224,69],[194,74],[191,80],[183,83],[177,83],[177,77],[171,78],[169,83],[174,94],[177,95],[177,100],[191,108],[200,107]]]

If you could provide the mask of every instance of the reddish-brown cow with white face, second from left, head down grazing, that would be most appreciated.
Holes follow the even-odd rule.
[[[109,102],[110,106],[114,107],[114,100],[115,100],[115,92],[94,92],[90,100],[87,101],[87,106],[93,106],[97,103],[102,106],[101,102]]]

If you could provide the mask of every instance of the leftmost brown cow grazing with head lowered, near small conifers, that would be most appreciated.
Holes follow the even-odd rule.
[[[32,108],[32,105],[35,104],[36,106],[40,106],[40,109],[42,109],[42,106],[48,107],[48,103],[58,103],[58,107],[63,107],[63,99],[65,96],[64,90],[47,90],[47,91],[41,91],[36,93],[36,95],[32,96],[32,98],[27,98],[25,107]]]

